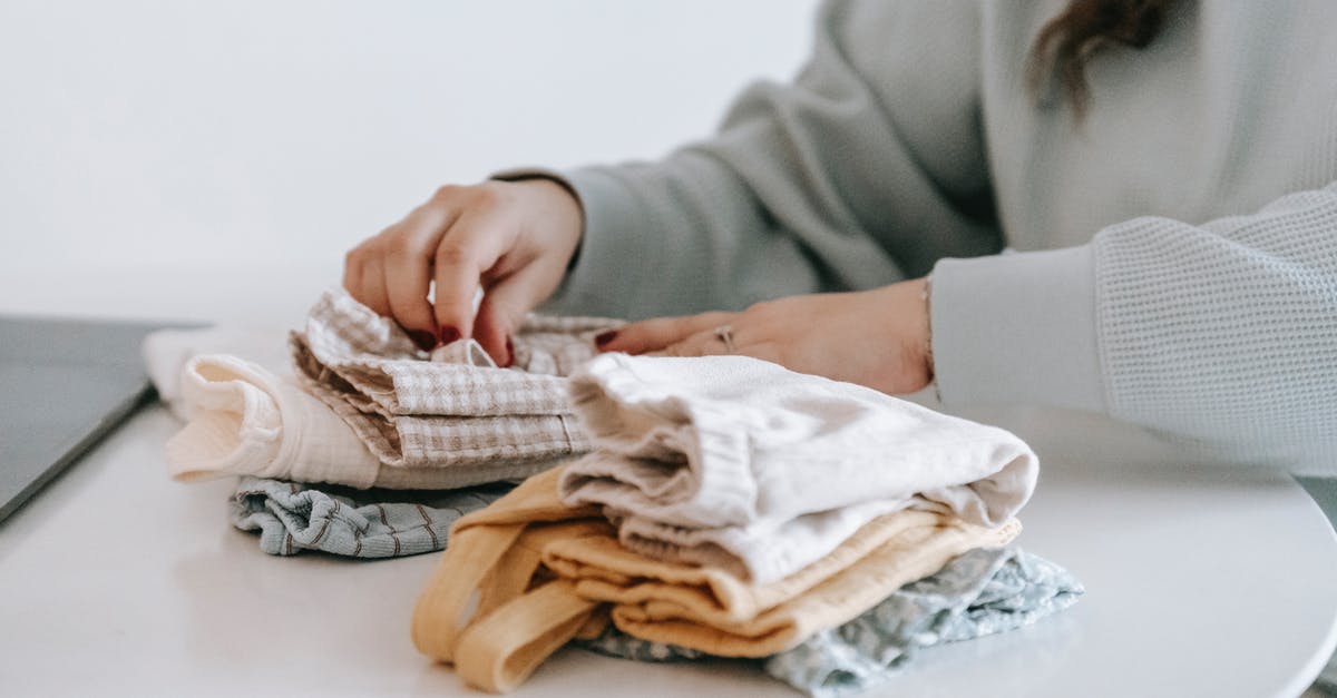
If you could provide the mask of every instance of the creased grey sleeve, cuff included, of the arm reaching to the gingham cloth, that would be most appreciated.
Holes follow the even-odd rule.
[[[544,310],[735,310],[924,274],[931,250],[997,251],[979,35],[971,1],[828,1],[794,82],[751,86],[711,139],[656,162],[495,175],[562,179],[582,202],[580,249]]]

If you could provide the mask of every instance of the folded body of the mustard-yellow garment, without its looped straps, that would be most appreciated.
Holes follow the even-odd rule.
[[[576,579],[582,598],[614,603],[630,635],[722,657],[767,657],[814,632],[846,623],[901,586],[952,558],[1007,544],[1015,519],[997,528],[924,511],[898,511],[864,524],[849,540],[793,575],[749,584],[711,567],[651,560],[611,538],[559,540],[544,563]]]

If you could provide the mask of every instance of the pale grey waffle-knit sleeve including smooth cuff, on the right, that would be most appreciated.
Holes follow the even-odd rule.
[[[1337,473],[1337,183],[1195,226],[944,259],[945,402],[1108,412],[1243,460]]]

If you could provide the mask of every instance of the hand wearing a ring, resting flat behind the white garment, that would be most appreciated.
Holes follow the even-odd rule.
[[[868,292],[792,296],[742,313],[646,320],[604,333],[599,348],[743,354],[885,393],[913,393],[933,380],[925,289],[925,279],[915,279]],[[731,348],[717,332],[726,326]]]

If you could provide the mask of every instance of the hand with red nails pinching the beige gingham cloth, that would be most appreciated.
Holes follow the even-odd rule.
[[[344,287],[420,346],[473,337],[505,366],[511,336],[562,282],[583,226],[575,195],[551,179],[444,186],[348,253]]]

